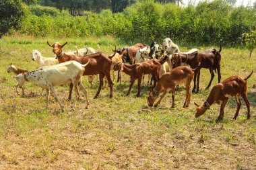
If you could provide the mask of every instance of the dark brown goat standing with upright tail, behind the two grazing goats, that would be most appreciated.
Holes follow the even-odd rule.
[[[218,83],[220,83],[221,75],[220,75],[220,60],[221,55],[220,52],[222,50],[222,46],[220,46],[220,50],[210,49],[205,51],[194,52],[192,54],[182,54],[176,53],[172,56],[172,65],[177,67],[181,65],[181,62],[189,65],[192,69],[197,68],[194,75],[194,87],[192,92],[195,92],[195,88],[197,87],[197,93],[199,92],[199,79],[200,79],[200,70],[201,68],[209,69],[211,73],[211,80],[205,89],[209,89],[212,84],[212,80],[214,79],[214,71],[218,73]],[[195,85],[197,82],[197,85]]]

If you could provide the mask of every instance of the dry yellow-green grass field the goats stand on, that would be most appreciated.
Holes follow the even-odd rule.
[[[108,98],[108,88],[93,99],[98,83],[91,87],[84,77],[88,109],[84,108],[82,97],[72,111],[71,102],[66,100],[69,86],[64,85],[56,89],[65,112],[60,112],[52,96],[46,110],[40,87],[26,83],[25,97],[15,93],[16,81],[13,74],[7,73],[7,66],[12,62],[23,69],[38,68],[30,52],[38,49],[43,56],[53,56],[47,40],[68,41],[65,50],[74,49],[75,45],[97,49],[100,44],[100,51],[107,54],[112,53],[114,44],[127,45],[109,37],[53,40],[12,36],[0,40],[0,169],[256,169],[256,73],[247,81],[250,120],[246,120],[244,101],[238,119],[232,120],[236,112],[234,98],[228,100],[222,122],[215,122],[220,112],[217,104],[195,119],[193,101],[203,103],[210,93],[204,90],[210,81],[206,69],[201,71],[200,92],[191,96],[186,109],[182,108],[183,87],[176,93],[174,109],[170,109],[170,93],[158,108],[149,108],[148,86],[141,88],[141,97],[135,97],[135,83],[131,94],[125,96],[129,77],[123,73],[125,82],[115,82],[113,99]],[[188,48],[183,46],[181,51]],[[247,77],[253,69],[256,71],[255,53],[249,58],[247,50],[224,46],[221,54],[222,81],[231,75]],[[217,76],[212,86],[216,83]]]

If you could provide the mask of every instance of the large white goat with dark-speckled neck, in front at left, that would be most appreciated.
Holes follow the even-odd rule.
[[[86,63],[88,63],[90,60]],[[64,111],[63,105],[59,98],[55,93],[54,86],[56,85],[64,85],[66,83],[72,82],[75,87],[75,95],[76,100],[74,103],[73,108],[76,105],[76,101],[79,96],[78,86],[84,92],[86,96],[86,108],[88,108],[89,101],[87,96],[87,91],[82,85],[82,75],[85,71],[86,65],[81,65],[79,62],[71,60],[68,62],[63,62],[59,65],[47,66],[37,69],[36,71],[31,71],[28,73],[20,74],[15,77],[22,86],[22,83],[25,81],[31,81],[39,85],[43,89],[46,89],[46,108],[49,108],[49,89],[53,92],[55,99],[58,101],[59,105],[61,106],[61,110]]]

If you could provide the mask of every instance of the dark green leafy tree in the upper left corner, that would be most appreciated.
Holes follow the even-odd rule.
[[[18,30],[26,15],[24,3],[35,0],[1,0],[0,1],[0,39],[10,30]]]

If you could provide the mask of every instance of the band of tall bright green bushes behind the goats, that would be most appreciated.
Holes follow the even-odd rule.
[[[114,36],[123,40],[162,41],[170,37],[175,42],[241,44],[242,34],[256,28],[256,9],[232,7],[227,1],[201,2],[196,7],[179,7],[174,3],[138,1],[122,13],[110,9],[100,13],[86,11],[72,17],[68,11],[32,11],[20,32],[33,36],[91,37]],[[44,11],[44,12],[42,12]],[[40,15],[38,15],[40,13]]]

